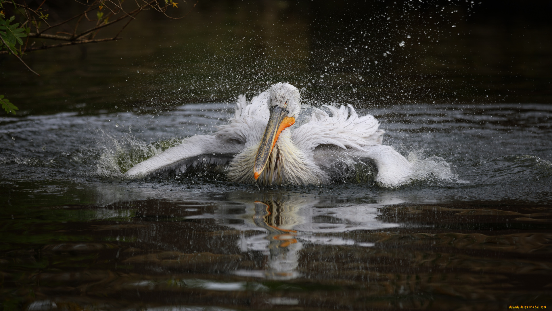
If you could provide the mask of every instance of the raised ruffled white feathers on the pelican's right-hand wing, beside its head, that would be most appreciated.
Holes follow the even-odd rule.
[[[378,120],[372,115],[359,117],[351,105],[347,106],[339,109],[326,106],[332,116],[315,108],[310,121],[296,129],[291,139],[308,156],[312,156],[314,149],[321,144],[332,144],[343,149],[351,147],[360,151],[364,150],[364,146],[381,144],[381,134],[385,132],[378,129]]]

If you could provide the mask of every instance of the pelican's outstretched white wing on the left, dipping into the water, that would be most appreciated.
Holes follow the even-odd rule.
[[[236,153],[242,151],[243,144],[224,137],[196,135],[186,138],[178,146],[167,149],[144,162],[140,162],[125,173],[128,177],[144,177],[168,170],[185,172],[198,164],[226,164]]]

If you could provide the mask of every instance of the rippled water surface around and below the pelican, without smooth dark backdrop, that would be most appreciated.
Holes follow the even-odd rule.
[[[548,303],[552,109],[432,104],[362,112],[382,122],[384,143],[425,161],[428,173],[397,189],[354,178],[320,187],[238,185],[206,168],[127,180],[120,172],[129,161],[214,131],[232,106],[7,118],[0,125],[4,305]]]

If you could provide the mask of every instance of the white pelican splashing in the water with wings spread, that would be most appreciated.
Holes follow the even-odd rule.
[[[232,182],[328,184],[343,167],[373,162],[375,182],[396,186],[412,174],[412,164],[382,143],[385,133],[371,115],[359,117],[351,105],[325,106],[331,116],[313,108],[310,120],[294,126],[301,112],[299,90],[277,83],[247,103],[238,97],[233,118],[212,135],[196,135],[178,146],[134,165],[127,177],[174,170],[183,173],[198,164],[227,165]]]

